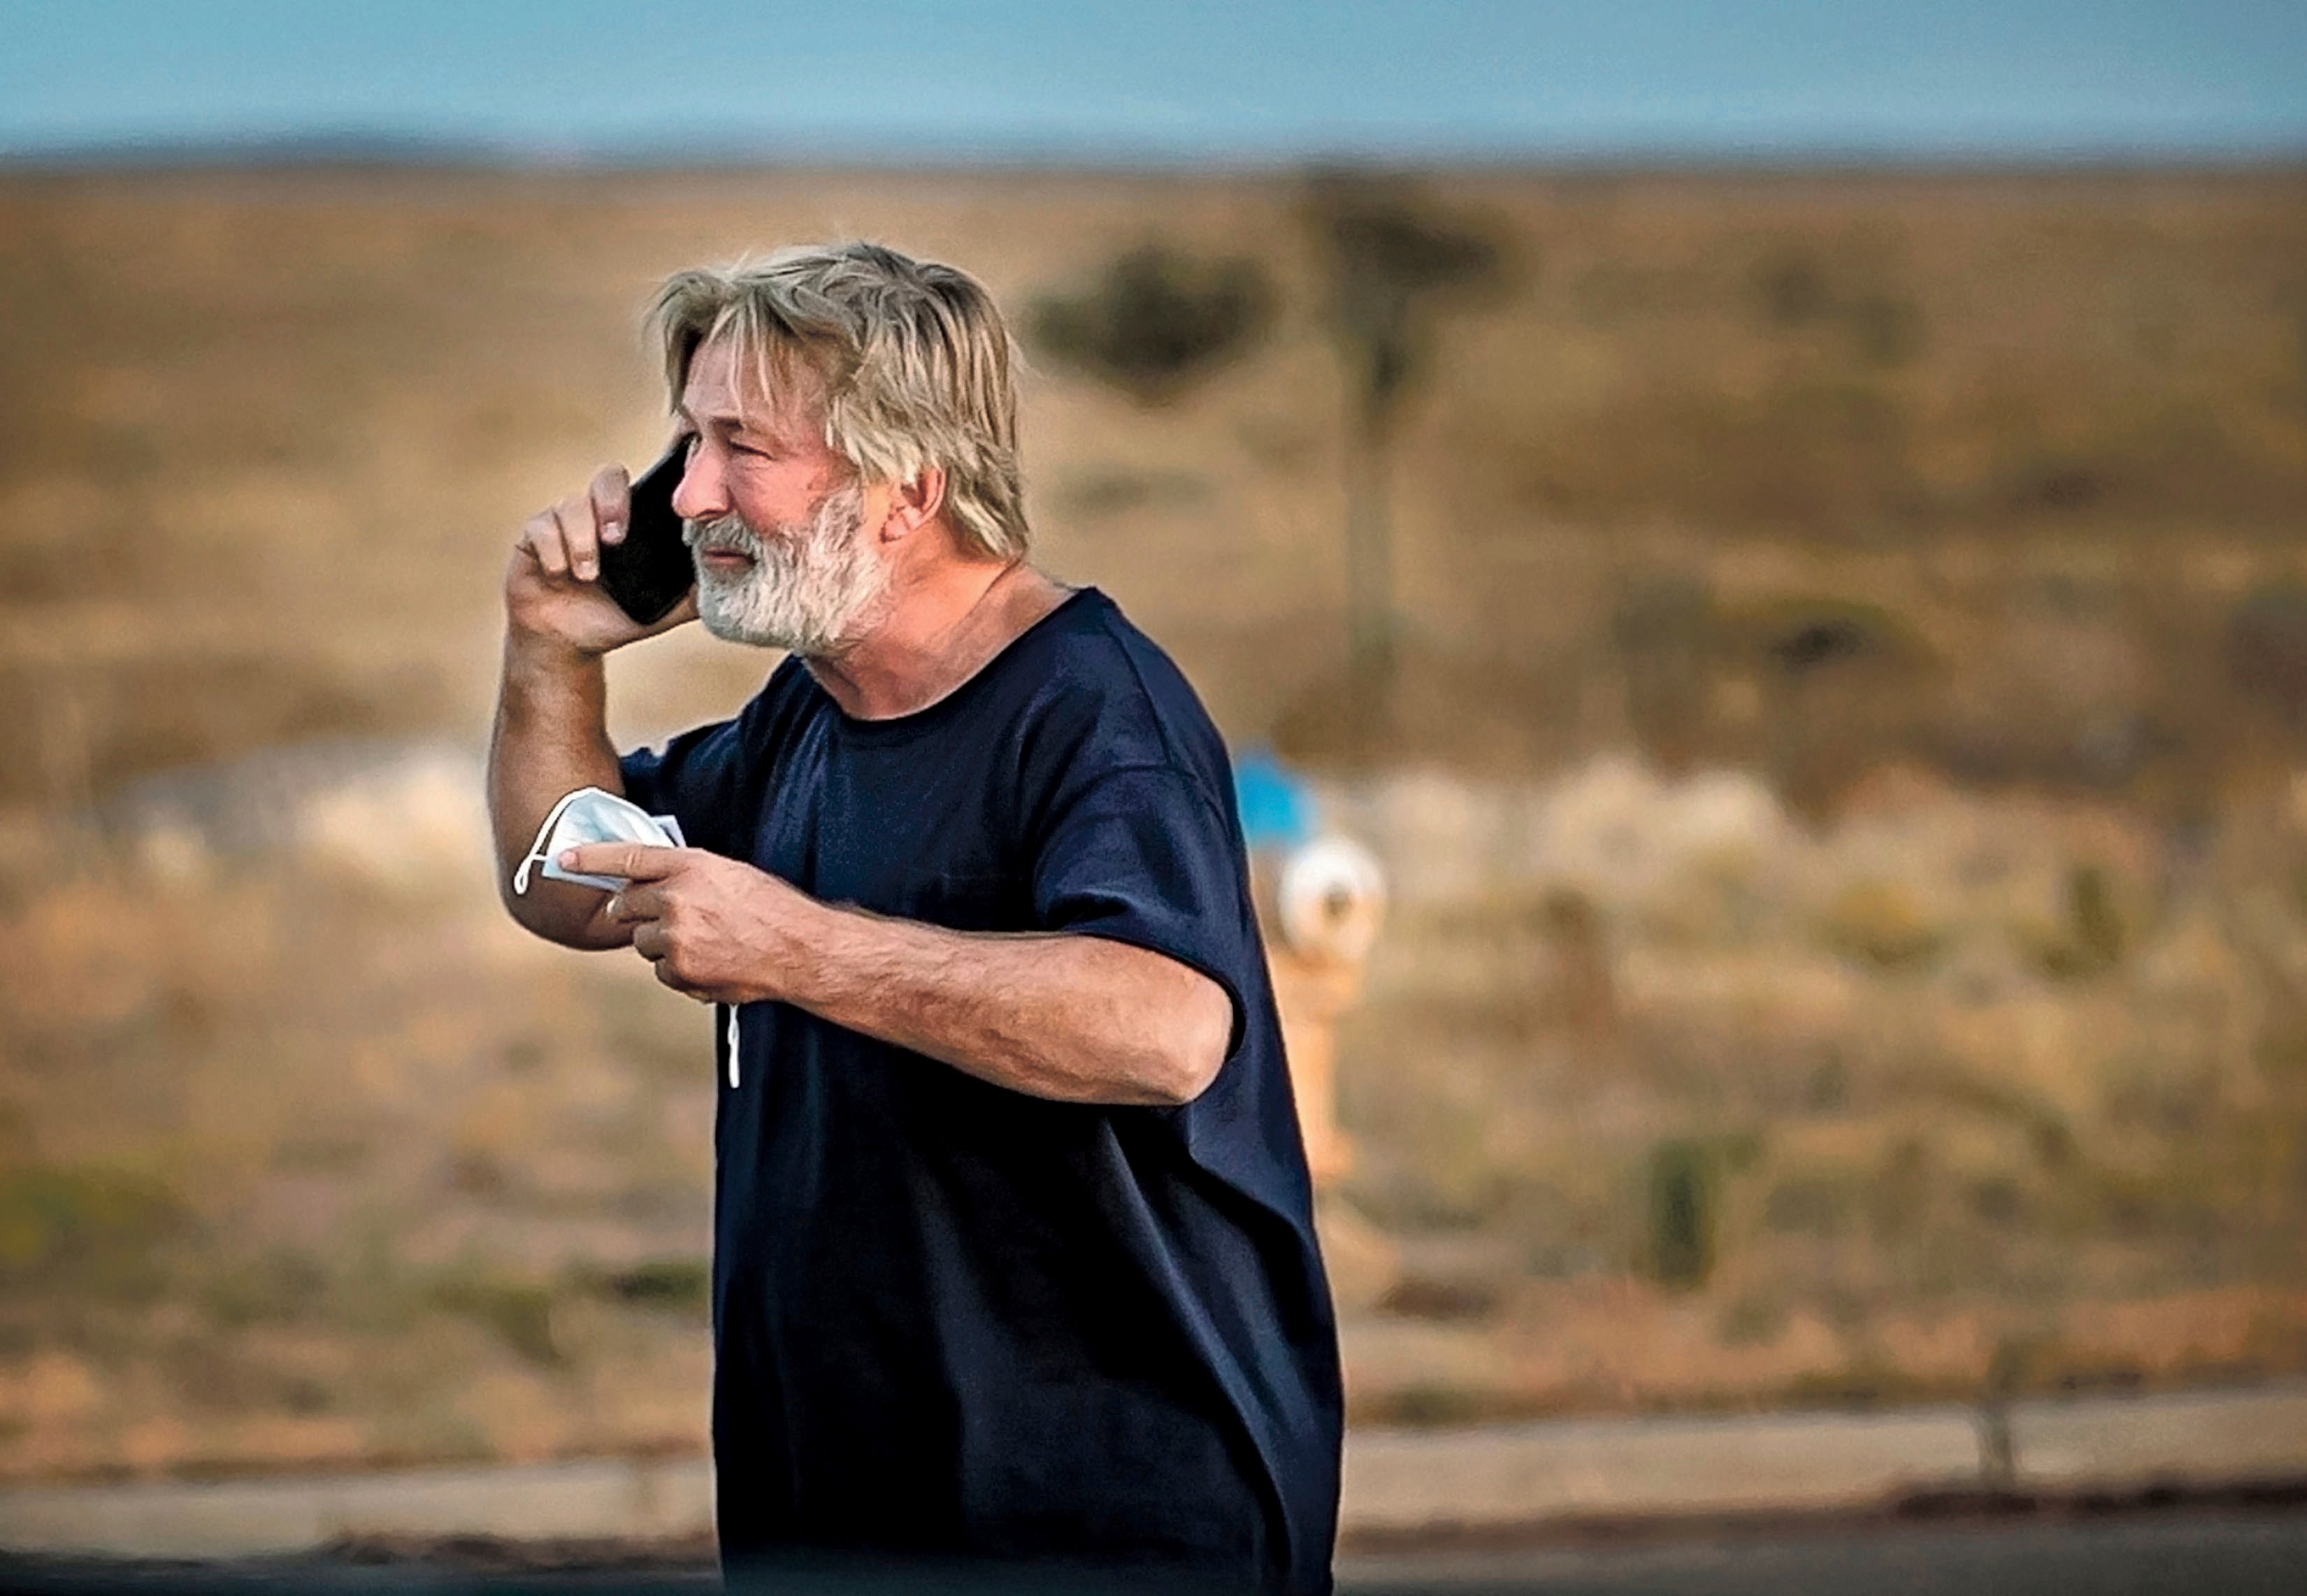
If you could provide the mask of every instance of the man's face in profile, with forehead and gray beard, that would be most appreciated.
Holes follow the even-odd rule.
[[[771,404],[745,376],[717,339],[681,394],[697,443],[674,510],[697,560],[697,616],[731,643],[835,655],[886,611],[888,565],[814,397]]]

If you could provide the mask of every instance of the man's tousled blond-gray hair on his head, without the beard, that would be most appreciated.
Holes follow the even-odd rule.
[[[764,392],[810,378],[826,447],[872,482],[946,473],[946,512],[980,554],[1027,551],[1013,344],[985,288],[884,244],[803,244],[674,272],[648,307],[674,404],[697,351],[736,339]]]

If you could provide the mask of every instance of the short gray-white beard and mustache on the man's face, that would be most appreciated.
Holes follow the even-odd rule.
[[[690,551],[729,549],[752,556],[752,570],[722,577],[697,565],[697,618],[729,643],[837,655],[856,643],[884,609],[888,567],[858,535],[865,491],[826,494],[807,521],[757,535],[736,514],[690,521]]]

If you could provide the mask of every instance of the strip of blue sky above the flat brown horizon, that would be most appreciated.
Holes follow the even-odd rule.
[[[2307,155],[2307,0],[7,0],[0,155]]]

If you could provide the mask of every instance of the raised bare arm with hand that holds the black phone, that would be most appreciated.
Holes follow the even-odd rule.
[[[563,498],[521,528],[505,567],[505,664],[489,738],[489,826],[496,890],[524,927],[568,948],[623,948],[632,927],[602,916],[607,893],[531,869],[512,890],[551,807],[579,786],[623,791],[607,729],[609,650],[697,616],[694,597],[653,627],[634,625],[600,590],[600,544],[625,530],[628,482],[618,466],[586,494]]]

